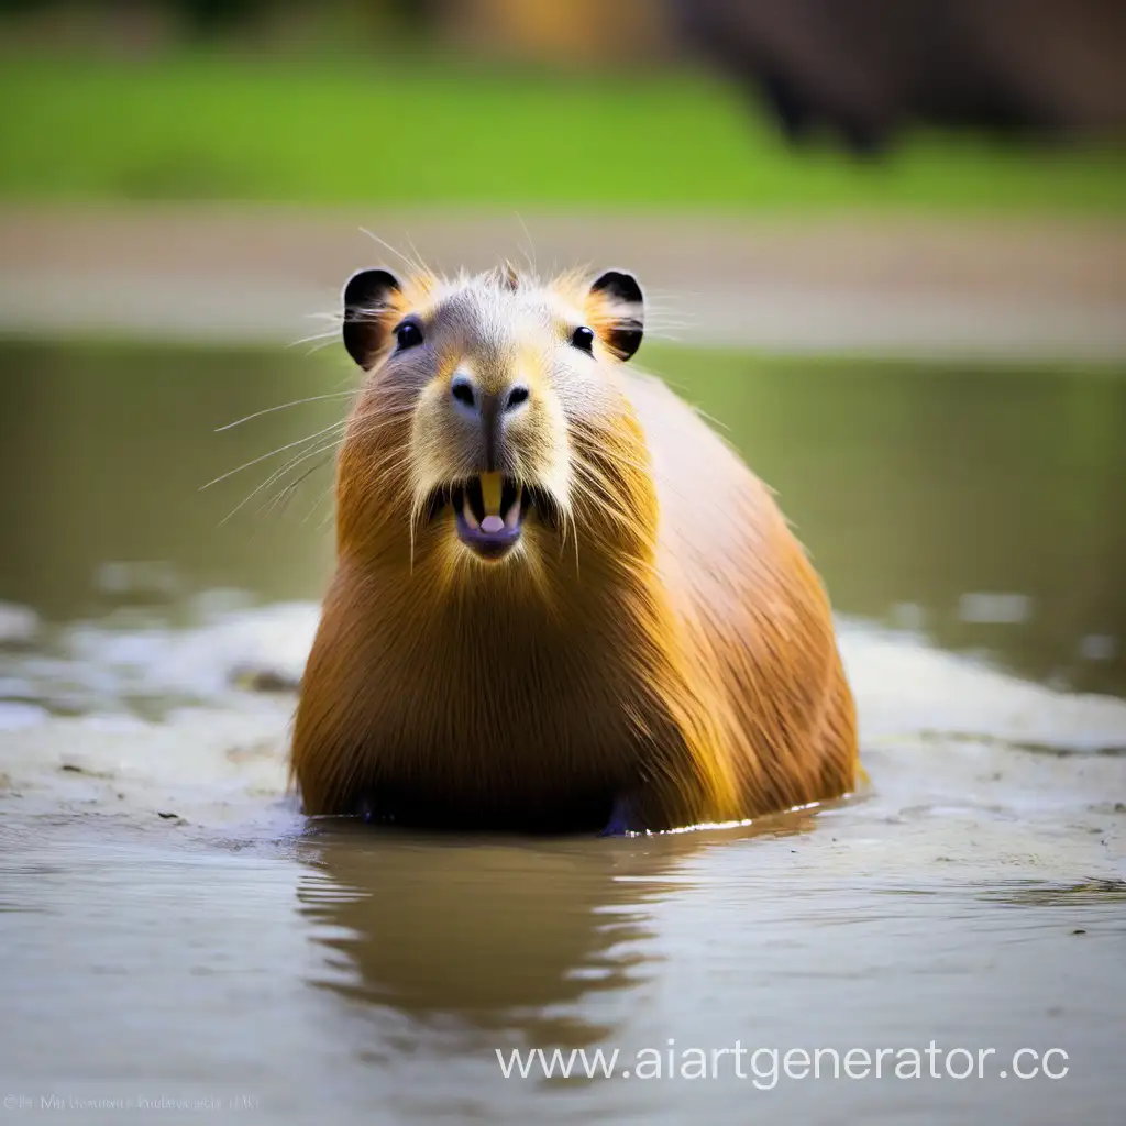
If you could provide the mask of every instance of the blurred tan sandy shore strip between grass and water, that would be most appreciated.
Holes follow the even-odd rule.
[[[0,331],[288,343],[355,268],[622,265],[692,343],[969,358],[1126,356],[1126,224],[325,211],[0,208]]]

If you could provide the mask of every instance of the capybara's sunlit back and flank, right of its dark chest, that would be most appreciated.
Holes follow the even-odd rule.
[[[668,386],[629,381],[659,498],[658,571],[741,816],[839,796],[856,713],[829,600],[769,489]]]

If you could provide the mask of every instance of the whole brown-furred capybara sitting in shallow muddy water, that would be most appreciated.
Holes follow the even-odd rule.
[[[624,366],[642,319],[618,271],[349,282],[368,374],[296,718],[307,813],[660,830],[854,787],[821,582],[769,490]]]

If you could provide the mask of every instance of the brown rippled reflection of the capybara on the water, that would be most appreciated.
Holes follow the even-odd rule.
[[[655,969],[646,904],[699,848],[590,841],[443,841],[342,826],[304,860],[298,888],[332,951],[323,982],[423,1027],[582,1047],[615,1031],[614,1006]],[[342,963],[341,963],[341,959]],[[606,1015],[598,1020],[592,1013]]]

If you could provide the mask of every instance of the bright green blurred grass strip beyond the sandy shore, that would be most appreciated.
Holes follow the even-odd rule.
[[[918,135],[864,164],[787,150],[694,74],[373,57],[0,63],[0,197],[1120,213],[1126,150]]]

